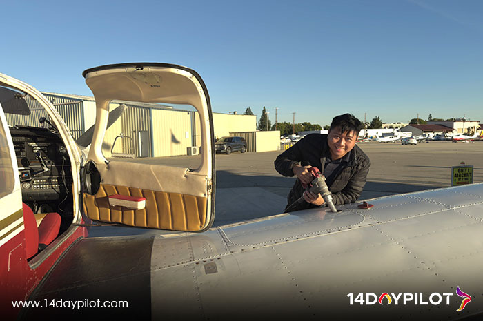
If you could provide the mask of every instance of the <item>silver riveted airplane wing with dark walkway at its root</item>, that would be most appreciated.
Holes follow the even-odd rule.
[[[31,300],[124,298],[153,320],[480,315],[483,184],[370,203],[371,209],[308,209],[203,234],[81,240]],[[457,311],[462,300],[469,303]],[[24,315],[37,313],[60,312]]]

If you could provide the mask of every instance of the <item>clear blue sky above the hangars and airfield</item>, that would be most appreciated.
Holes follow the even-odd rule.
[[[92,96],[81,72],[152,61],[193,68],[214,112],[326,125],[483,121],[483,1],[10,1],[0,72]]]

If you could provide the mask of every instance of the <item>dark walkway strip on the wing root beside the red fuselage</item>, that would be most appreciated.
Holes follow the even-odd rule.
[[[127,301],[124,309],[30,309],[22,320],[151,320],[151,261],[154,237],[83,238],[52,268],[29,300]],[[120,318],[119,318],[120,317]],[[80,319],[79,319],[80,320]]]

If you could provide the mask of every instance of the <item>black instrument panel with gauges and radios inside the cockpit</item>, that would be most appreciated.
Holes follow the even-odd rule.
[[[61,138],[45,128],[10,128],[24,201],[62,200],[72,194],[70,158]]]

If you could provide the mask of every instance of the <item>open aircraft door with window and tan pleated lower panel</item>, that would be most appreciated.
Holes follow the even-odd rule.
[[[215,149],[210,99],[199,74],[178,65],[125,63],[91,68],[83,76],[96,101],[95,130],[83,169],[88,218],[155,229],[208,229],[215,213]],[[121,104],[132,112],[106,130],[109,110]],[[195,110],[170,110],[162,104]],[[168,112],[172,114],[163,114]],[[177,132],[182,119],[163,125],[167,117],[190,118],[188,130]],[[131,123],[144,125],[132,130]],[[109,131],[117,136],[107,142]],[[159,138],[163,133],[168,141]],[[168,143],[163,142],[172,145],[165,148]],[[184,165],[188,156],[197,165]]]

